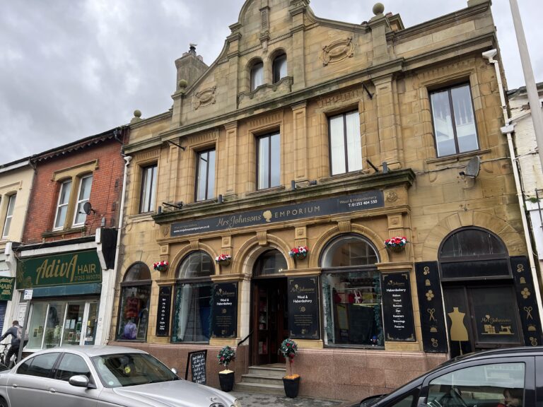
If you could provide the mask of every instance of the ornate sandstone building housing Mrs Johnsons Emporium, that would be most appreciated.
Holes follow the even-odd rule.
[[[290,337],[300,394],[332,399],[540,343],[481,57],[497,47],[490,1],[411,28],[383,11],[358,25],[308,0],[247,0],[213,64],[194,47],[176,61],[173,109],[136,112],[124,148],[113,342],[181,372],[207,350],[217,386],[222,346],[239,383],[284,364]]]

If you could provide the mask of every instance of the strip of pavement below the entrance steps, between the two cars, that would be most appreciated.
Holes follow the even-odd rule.
[[[339,407],[345,404],[345,401],[310,399],[308,397],[290,399],[274,394],[242,393],[241,391],[230,391],[230,394],[241,401],[242,407]]]

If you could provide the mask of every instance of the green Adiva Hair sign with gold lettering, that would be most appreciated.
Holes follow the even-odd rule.
[[[22,259],[17,264],[17,288],[100,283],[102,269],[95,250]]]

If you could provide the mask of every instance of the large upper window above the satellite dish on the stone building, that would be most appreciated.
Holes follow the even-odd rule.
[[[438,157],[479,149],[469,84],[430,93]]]

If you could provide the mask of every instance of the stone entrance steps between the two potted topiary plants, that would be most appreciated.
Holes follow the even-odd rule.
[[[250,366],[249,372],[242,375],[241,382],[234,385],[234,390],[284,396],[283,377],[285,375],[286,366],[284,363]]]

